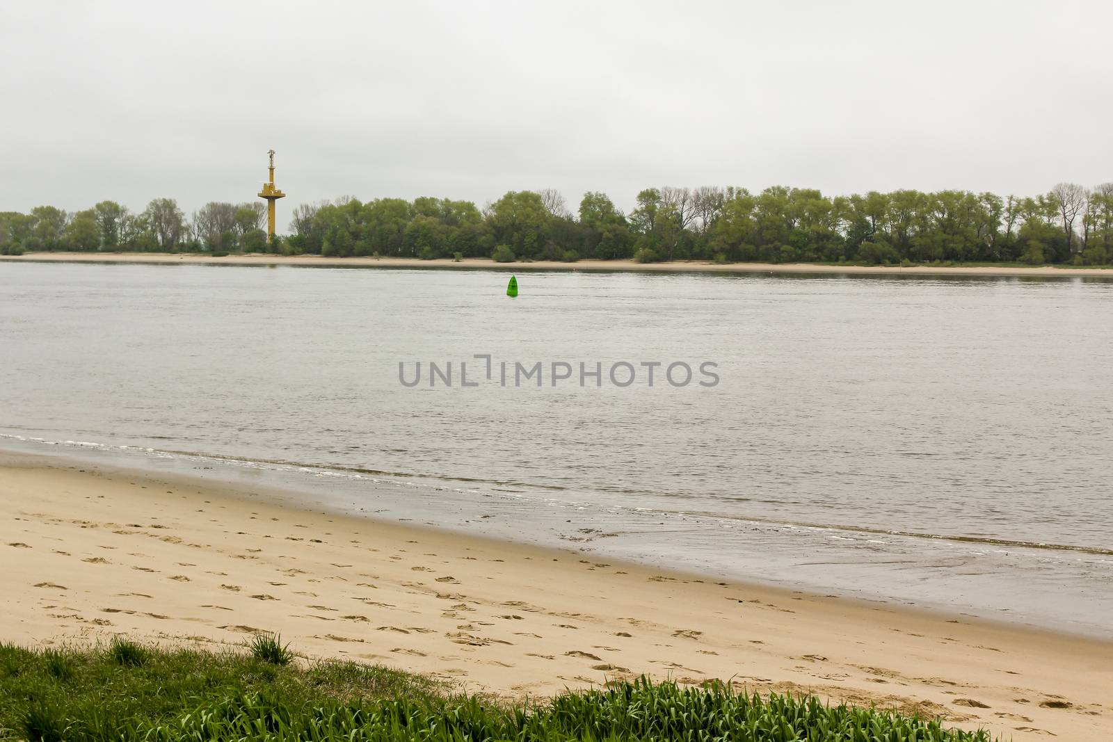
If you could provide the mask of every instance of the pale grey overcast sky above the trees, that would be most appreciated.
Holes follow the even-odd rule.
[[[0,210],[1113,180],[1110,2],[7,2]],[[284,212],[284,214],[283,214]]]

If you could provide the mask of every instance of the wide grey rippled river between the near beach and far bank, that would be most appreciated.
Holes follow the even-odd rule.
[[[3,264],[0,447],[1113,635],[1113,283],[520,284],[509,299],[489,271]],[[398,364],[410,380],[417,362],[406,387]],[[452,386],[430,386],[430,362]],[[541,386],[515,386],[515,362],[541,363]],[[662,364],[652,387],[644,362]],[[662,382],[679,362],[692,380]]]

